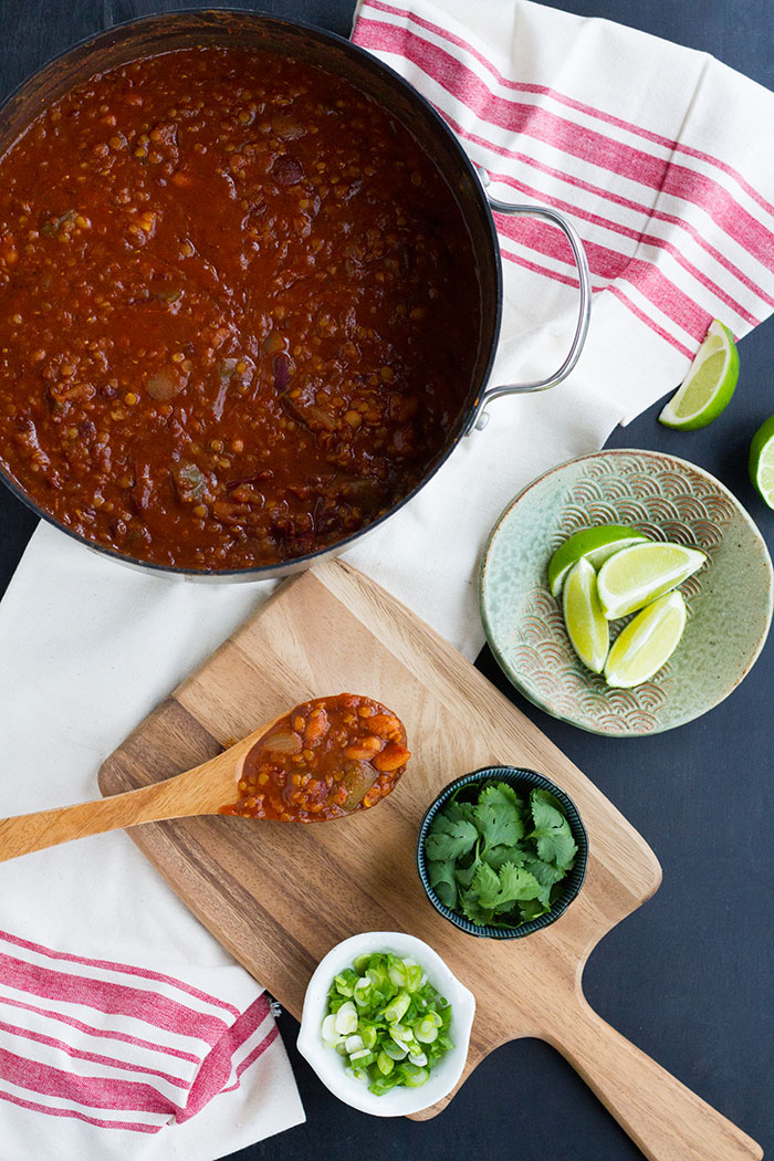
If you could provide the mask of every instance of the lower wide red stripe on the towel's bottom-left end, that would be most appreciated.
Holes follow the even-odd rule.
[[[88,1109],[155,1113],[168,1118],[178,1111],[174,1101],[169,1101],[152,1084],[113,1077],[79,1076],[38,1060],[19,1057],[6,1048],[0,1048],[0,1079],[17,1088],[59,1101],[71,1101]]]

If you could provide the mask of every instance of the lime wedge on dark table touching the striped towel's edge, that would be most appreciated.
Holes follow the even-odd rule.
[[[739,378],[739,353],[728,326],[715,319],[681,387],[658,417],[665,427],[706,427],[728,405]]]

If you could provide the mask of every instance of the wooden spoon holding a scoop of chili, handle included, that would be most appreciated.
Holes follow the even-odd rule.
[[[389,794],[410,757],[403,724],[378,701],[352,693],[316,698],[175,778],[94,802],[1,819],[0,861],[162,819],[340,819]]]

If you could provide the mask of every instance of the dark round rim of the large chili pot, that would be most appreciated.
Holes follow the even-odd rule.
[[[102,556],[107,556],[108,558],[114,560],[120,564],[125,564],[129,565],[130,568],[135,568],[140,571],[150,571],[161,576],[175,576],[191,580],[222,580],[222,579],[269,580],[275,577],[281,577],[284,575],[289,575],[291,572],[301,571],[303,569],[310,568],[312,564],[319,563],[326,557],[337,556],[340,553],[345,553],[367,533],[372,532],[375,528],[381,527],[386,520],[396,515],[397,512],[399,512],[406,504],[408,504],[408,502],[412,500],[414,496],[417,496],[417,493],[427,483],[429,483],[429,481],[433,478],[436,471],[449,459],[455,447],[460,442],[460,439],[468,434],[469,426],[471,423],[471,417],[476,414],[476,410],[480,402],[482,395],[492,374],[492,366],[494,363],[494,356],[497,353],[498,341],[500,337],[500,327],[502,323],[502,261],[500,258],[500,247],[497,235],[497,228],[494,225],[494,218],[492,216],[492,209],[490,207],[489,199],[486,196],[484,187],[482,186],[480,178],[478,176],[476,166],[468,157],[465,150],[457,139],[456,134],[450,129],[450,127],[447,124],[447,122],[443,120],[440,113],[435,109],[435,107],[427,100],[427,98],[422,96],[419,89],[414,88],[414,86],[410,81],[407,81],[404,77],[402,77],[400,73],[396,72],[395,68],[385,64],[372,52],[369,52],[367,49],[361,48],[359,44],[354,44],[350,39],[340,36],[338,33],[332,33],[326,28],[320,28],[318,24],[311,24],[308,21],[292,20],[285,16],[276,16],[273,13],[263,12],[261,9],[245,9],[245,8],[179,8],[173,12],[154,13],[146,16],[124,20],[117,24],[111,24],[109,28],[102,29],[99,33],[85,36],[80,41],[77,41],[74,44],[71,44],[67,49],[63,50],[62,52],[58,52],[53,57],[50,57],[38,68],[36,68],[22,81],[20,81],[19,85],[15,86],[15,88],[8,94],[8,96],[0,103],[0,113],[2,113],[7,108],[7,106],[9,106],[13,101],[17,100],[20,95],[23,93],[24,88],[27,88],[28,85],[30,85],[37,77],[44,73],[48,68],[51,68],[53,65],[65,60],[67,57],[79,51],[93,48],[94,45],[108,41],[116,33],[122,33],[122,31],[126,33],[129,29],[147,24],[164,26],[167,22],[179,20],[181,16],[193,19],[194,21],[201,21],[202,24],[205,24],[207,17],[208,16],[211,17],[214,15],[216,15],[218,19],[222,19],[223,21],[226,21],[229,17],[232,17],[239,21],[247,21],[249,23],[255,22],[259,24],[260,23],[280,24],[294,29],[301,29],[304,33],[312,34],[312,36],[317,37],[323,42],[328,42],[337,45],[341,51],[348,52],[350,56],[353,56],[356,59],[360,59],[361,62],[366,62],[368,66],[374,68],[375,71],[377,72],[382,71],[383,73],[386,73],[390,81],[393,85],[397,85],[398,88],[402,88],[410,98],[410,100],[412,100],[422,110],[422,114],[429,120],[431,123],[434,124],[435,130],[439,131],[441,135],[446,136],[447,140],[449,140],[453,144],[458,161],[462,165],[463,171],[471,179],[472,187],[476,189],[480,207],[484,210],[484,221],[486,223],[490,235],[489,239],[490,257],[493,267],[491,273],[493,274],[494,277],[495,312],[494,312],[494,318],[492,319],[492,339],[485,366],[482,368],[482,372],[478,376],[479,382],[476,384],[475,397],[472,399],[470,398],[471,392],[473,390],[473,384],[471,383],[471,385],[468,388],[466,399],[460,410],[460,414],[457,416],[454,433],[447,435],[444,447],[436,455],[435,461],[431,462],[431,464],[427,467],[419,483],[415,484],[415,486],[412,488],[412,490],[407,492],[406,496],[404,496],[388,512],[384,512],[382,515],[377,517],[375,520],[371,520],[362,528],[359,528],[356,532],[350,533],[348,536],[343,536],[341,540],[338,540],[332,545],[326,545],[323,548],[318,548],[313,553],[305,553],[303,556],[289,557],[287,561],[280,561],[275,564],[261,564],[258,567],[233,568],[233,569],[227,569],[227,568],[189,569],[175,564],[158,564],[154,561],[144,561],[140,560],[139,557],[131,556],[128,553],[120,553],[115,548],[110,548],[106,545],[100,545],[96,541],[89,540],[87,536],[81,535],[80,533],[73,532],[72,528],[68,528],[66,525],[62,524],[51,513],[45,512],[43,509],[41,509],[38,504],[30,496],[28,496],[23,491],[23,489],[16,483],[16,481],[13,479],[13,477],[6,471],[2,462],[0,462],[0,479],[8,488],[8,490],[19,500],[21,500],[22,504],[24,504],[28,509],[30,509],[38,518],[45,520],[48,524],[52,525],[52,527],[55,528],[58,528],[60,532],[64,532],[77,543],[84,545],[86,548],[92,549],[92,551],[99,553]],[[226,36],[227,29],[224,28],[223,33],[224,36]],[[160,56],[162,55],[162,52],[164,50],[161,50],[161,52],[158,55]],[[17,134],[14,140],[7,146],[6,150],[3,150],[2,154],[0,154],[0,160],[2,157],[5,157],[5,154],[8,152],[9,149],[13,149],[13,146],[20,139],[23,132],[27,131],[27,129],[32,124],[36,117],[41,115],[42,111],[44,110],[39,109],[35,114],[35,116],[32,116],[26,123],[24,129]],[[408,131],[411,132],[411,130]],[[449,185],[448,181],[447,185]],[[449,188],[451,189],[450,186]],[[451,189],[451,193],[456,200],[454,189]],[[463,214],[463,219],[466,221],[464,214]],[[475,251],[477,266],[479,257],[480,257],[479,253]],[[483,325],[483,319],[482,319],[482,325]],[[479,348],[482,341],[484,341],[484,338],[479,329],[479,334],[478,334]]]

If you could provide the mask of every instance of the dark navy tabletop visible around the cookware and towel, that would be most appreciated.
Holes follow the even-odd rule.
[[[252,7],[239,0],[230,6]],[[0,0],[0,99],[81,37],[176,7],[205,5]],[[265,0],[260,7],[345,36],[350,30],[352,0]],[[774,88],[772,0],[562,0],[554,7],[703,49]],[[771,149],[771,125],[761,124],[760,135],[761,147]],[[774,512],[751,488],[746,459],[752,433],[774,412],[773,354],[769,320],[744,339],[733,402],[704,431],[667,431],[656,421],[659,404],[610,440],[616,447],[673,452],[707,468],[750,510],[769,549]],[[0,489],[0,592],[34,525],[31,513]],[[555,721],[511,690],[486,651],[478,664],[615,802],[664,868],[657,895],[592,954],[585,974],[589,1002],[768,1152],[774,1147],[774,647],[769,643],[742,687],[704,717],[629,741]],[[641,1158],[570,1066],[540,1041],[504,1046],[437,1119],[414,1124],[377,1120],[339,1103],[295,1052],[296,1022],[283,1015],[280,1023],[308,1122],[234,1154],[240,1161]]]

